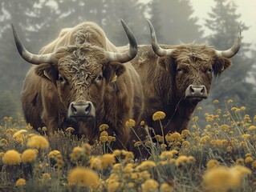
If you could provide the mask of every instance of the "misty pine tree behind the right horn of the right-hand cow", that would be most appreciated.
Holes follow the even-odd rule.
[[[205,26],[213,31],[208,40],[216,50],[226,50],[234,44],[240,15],[236,14],[237,6],[234,2],[226,0],[215,0],[215,2],[216,6],[209,13],[210,18],[205,20]],[[242,23],[242,33],[245,30],[248,30],[248,27]],[[233,98],[240,105],[246,104],[249,99],[248,92],[253,89],[253,85],[246,81],[253,63],[253,60],[246,56],[249,46],[250,44],[242,42],[238,54],[231,58],[232,66],[221,74],[220,78],[213,80],[210,93],[212,99],[224,102]]]

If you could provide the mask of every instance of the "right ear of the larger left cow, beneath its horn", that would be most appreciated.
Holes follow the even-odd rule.
[[[116,82],[116,79],[125,72],[124,64],[120,62],[110,62],[104,66],[104,78],[106,82]]]

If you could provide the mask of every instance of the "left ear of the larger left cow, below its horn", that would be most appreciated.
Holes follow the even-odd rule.
[[[51,64],[44,63],[35,67],[35,74],[56,83],[58,71]]]

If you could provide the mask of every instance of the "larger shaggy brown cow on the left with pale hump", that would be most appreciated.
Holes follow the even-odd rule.
[[[136,39],[121,22],[130,43],[125,53],[93,22],[62,30],[40,54],[30,54],[13,28],[19,54],[35,64],[22,90],[26,122],[35,129],[47,126],[49,137],[72,126],[90,143],[99,139],[99,126],[106,123],[109,134],[116,134],[115,146],[127,145],[130,130],[125,122],[140,119],[143,97],[140,78],[129,62],[137,53]]]

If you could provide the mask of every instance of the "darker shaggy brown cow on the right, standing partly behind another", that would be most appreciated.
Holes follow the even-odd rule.
[[[156,42],[154,28],[149,22],[152,46],[139,46],[132,65],[144,87],[142,120],[162,135],[160,123],[152,120],[156,111],[164,111],[164,134],[188,128],[193,110],[207,98],[213,74],[226,70],[241,44],[241,30],[229,50],[214,50],[207,45],[162,45]],[[120,48],[120,50],[127,50]]]

